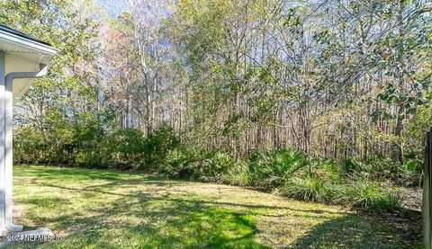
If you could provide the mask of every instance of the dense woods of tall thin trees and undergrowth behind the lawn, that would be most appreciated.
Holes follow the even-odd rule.
[[[349,186],[347,197],[419,184],[432,124],[430,2],[107,4],[0,3],[0,23],[60,49],[15,107],[16,162],[157,170],[350,203],[331,186]]]

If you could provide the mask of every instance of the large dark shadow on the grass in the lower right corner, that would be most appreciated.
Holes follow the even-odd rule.
[[[410,219],[415,219],[413,220]],[[291,248],[414,248],[421,247],[421,213],[347,214],[313,227]]]

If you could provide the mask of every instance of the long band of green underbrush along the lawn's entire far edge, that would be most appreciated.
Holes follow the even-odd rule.
[[[224,182],[297,200],[374,211],[401,209],[403,193],[396,186],[420,183],[421,162],[413,156],[405,158],[405,165],[397,165],[380,157],[328,160],[280,149],[253,151],[247,158],[234,159],[221,150],[186,146],[166,125],[147,136],[138,129],[112,129],[97,136],[94,130],[84,135],[67,133],[75,139],[71,144],[52,144],[57,140],[38,137],[33,129],[21,129],[15,134],[19,139],[14,144],[14,159],[24,164],[162,173],[168,178]],[[90,140],[79,142],[81,137]]]

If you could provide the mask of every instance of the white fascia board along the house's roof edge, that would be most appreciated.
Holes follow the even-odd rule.
[[[29,52],[36,52],[42,55],[54,56],[58,52],[58,49],[54,49],[46,44],[35,40],[29,40],[6,31],[0,31],[0,42],[2,41],[23,48]]]

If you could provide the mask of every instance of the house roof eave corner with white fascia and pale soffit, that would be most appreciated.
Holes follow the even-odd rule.
[[[0,50],[5,53],[6,75],[12,72],[39,71],[40,64],[48,65],[58,52],[44,42],[20,34],[0,29]],[[33,81],[34,79],[14,80],[14,103],[27,91]]]

